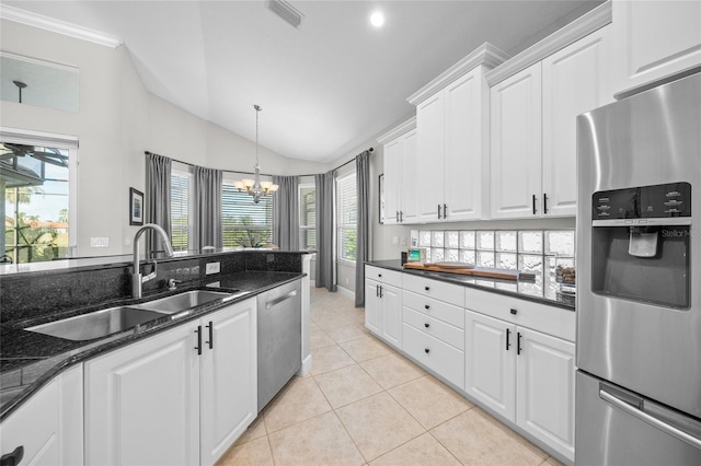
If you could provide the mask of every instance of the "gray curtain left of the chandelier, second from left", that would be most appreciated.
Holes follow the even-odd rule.
[[[195,166],[193,247],[221,248],[221,171]]]

